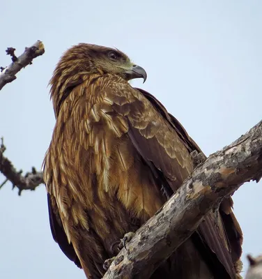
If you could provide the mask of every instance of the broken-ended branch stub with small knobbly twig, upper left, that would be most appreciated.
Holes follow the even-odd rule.
[[[13,47],[8,47],[6,54],[12,57],[13,63],[6,68],[1,67],[0,73],[0,90],[8,82],[13,82],[16,79],[16,74],[27,65],[31,64],[33,59],[45,53],[44,44],[38,40],[31,47],[26,47],[24,53],[18,58],[15,56],[15,49]]]

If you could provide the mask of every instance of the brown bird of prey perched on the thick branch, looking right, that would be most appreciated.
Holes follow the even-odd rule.
[[[102,278],[113,244],[160,209],[192,172],[190,153],[201,152],[160,101],[129,84],[139,77],[146,71],[123,52],[80,43],[50,81],[49,220],[54,240],[89,279]],[[242,232],[232,205],[224,199],[151,278],[240,278]]]

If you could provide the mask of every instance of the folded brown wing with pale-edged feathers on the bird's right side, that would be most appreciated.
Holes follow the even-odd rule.
[[[170,197],[193,170],[190,153],[195,149],[201,150],[187,135],[183,126],[151,94],[133,89],[132,101],[128,94],[128,88],[121,87],[119,90],[117,86],[111,88],[111,93],[107,92],[114,102],[114,111],[128,119],[128,135],[132,144],[155,174],[155,179],[161,181],[164,193]],[[232,221],[233,213],[229,212],[231,216],[227,216],[231,220],[227,221],[222,220],[219,213],[210,213],[192,239],[213,271],[219,273],[224,267],[226,273],[220,273],[224,274],[223,278],[236,278],[234,262],[241,255],[242,233],[239,225],[236,226],[236,218],[236,224]],[[225,227],[232,233],[231,239],[225,232]],[[235,255],[233,259],[232,249]]]

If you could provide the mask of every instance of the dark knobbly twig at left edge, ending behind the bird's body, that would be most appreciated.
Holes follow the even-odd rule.
[[[41,183],[43,183],[43,173],[36,172],[36,169],[32,167],[31,172],[27,172],[25,176],[22,175],[22,171],[17,172],[13,164],[3,156],[3,152],[6,150],[6,146],[3,145],[3,138],[1,139],[0,146],[0,172],[6,176],[6,180],[1,183],[0,188],[7,182],[13,183],[13,188],[18,188],[18,195],[21,195],[22,190],[35,190]]]

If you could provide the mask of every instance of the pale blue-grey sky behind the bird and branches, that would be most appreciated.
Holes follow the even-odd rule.
[[[144,67],[132,82],[153,93],[209,155],[261,120],[262,1],[1,2],[0,66],[43,40],[45,54],[0,92],[0,136],[17,169],[40,169],[54,128],[47,84],[61,54],[77,43],[117,47]],[[0,183],[4,180],[0,176]],[[244,232],[243,259],[262,252],[262,183],[233,195]],[[84,279],[49,229],[44,186],[0,190],[0,276]]]

